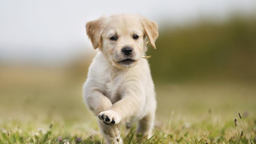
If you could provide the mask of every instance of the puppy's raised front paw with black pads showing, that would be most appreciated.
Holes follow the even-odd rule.
[[[98,114],[98,118],[106,125],[119,124],[120,116],[115,111],[103,111]]]

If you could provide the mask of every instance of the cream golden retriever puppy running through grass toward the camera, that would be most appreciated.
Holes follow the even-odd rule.
[[[156,98],[143,56],[147,40],[156,48],[158,25],[139,15],[120,14],[88,22],[86,32],[99,52],[89,67],[84,99],[98,116],[107,143],[118,143],[119,124],[130,126],[135,121],[139,121],[137,133],[151,137]]]

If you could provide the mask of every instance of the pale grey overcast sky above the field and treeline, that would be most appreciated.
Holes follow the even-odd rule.
[[[59,61],[92,52],[85,23],[101,15],[139,13],[159,22],[252,13],[256,0],[1,0],[0,61]],[[67,58],[68,59],[68,58]]]

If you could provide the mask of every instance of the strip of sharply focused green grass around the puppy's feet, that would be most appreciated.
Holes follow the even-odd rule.
[[[171,124],[171,127],[165,127],[164,125],[156,125],[151,138],[146,139],[140,135],[135,135],[134,127],[129,130],[121,129],[122,138],[125,144],[145,143],[145,144],[166,144],[166,143],[180,143],[180,144],[248,144],[248,138],[245,127],[243,127],[242,121],[238,122],[236,128],[233,120],[220,120],[214,118],[211,114],[208,116],[195,120],[191,123],[184,122],[182,120],[175,120],[175,114],[173,119],[176,122]],[[238,116],[238,115],[237,115]],[[247,118],[247,129],[250,141],[255,143],[255,122],[253,118]],[[99,133],[96,126],[90,126],[82,123],[73,124],[59,124],[54,122],[53,124],[37,124],[26,122],[7,121],[0,126],[2,129],[0,136],[1,144],[63,144],[69,142],[70,144],[101,144],[104,142],[104,138]],[[95,127],[91,129],[90,127]],[[10,135],[7,135],[7,128],[9,128]],[[239,135],[237,135],[239,133]],[[9,142],[8,142],[9,141]]]

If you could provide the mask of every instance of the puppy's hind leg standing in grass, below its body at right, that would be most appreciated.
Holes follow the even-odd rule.
[[[137,127],[137,134],[142,134],[143,137],[152,137],[152,130],[154,127],[155,111],[148,113],[144,118],[139,121]]]

